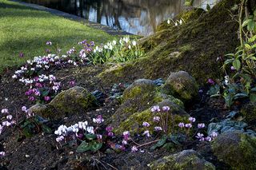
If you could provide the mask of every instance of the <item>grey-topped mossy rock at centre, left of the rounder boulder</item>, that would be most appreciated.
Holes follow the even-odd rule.
[[[123,121],[126,121],[134,113],[141,113],[166,99],[172,101],[172,103],[177,103],[178,108],[182,109],[184,107],[182,101],[170,95],[160,93],[154,81],[147,79],[134,81],[133,84],[125,89],[122,97],[122,105],[111,117],[111,122],[109,123],[114,127],[119,127]]]

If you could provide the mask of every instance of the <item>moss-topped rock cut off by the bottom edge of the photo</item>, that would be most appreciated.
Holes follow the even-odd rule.
[[[210,162],[204,160],[194,150],[184,150],[176,154],[165,156],[148,164],[150,169],[155,170],[214,170],[215,167]]]

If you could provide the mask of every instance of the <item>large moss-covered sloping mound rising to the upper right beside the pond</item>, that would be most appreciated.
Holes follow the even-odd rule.
[[[222,77],[219,69],[222,63],[216,58],[233,53],[239,44],[236,34],[238,23],[230,22],[229,12],[238,2],[223,0],[199,18],[142,38],[140,45],[145,49],[146,57],[121,65],[114,71],[101,73],[102,82],[166,79],[170,72],[178,70],[190,73],[199,84],[205,83],[208,78]],[[233,11],[234,14],[237,12]]]

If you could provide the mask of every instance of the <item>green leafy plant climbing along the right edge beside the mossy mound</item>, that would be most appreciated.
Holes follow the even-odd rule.
[[[242,0],[238,14],[240,45],[235,53],[226,54],[222,66],[225,80],[212,86],[208,92],[211,97],[223,97],[228,107],[239,98],[256,103],[256,10],[254,14],[248,14],[246,8],[246,1]],[[246,18],[242,21],[244,12]]]

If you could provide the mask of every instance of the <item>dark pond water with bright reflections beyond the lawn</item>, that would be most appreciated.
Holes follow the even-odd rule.
[[[61,10],[131,34],[154,33],[158,24],[174,18],[184,9],[185,0],[23,0]],[[206,9],[218,0],[194,0]]]

